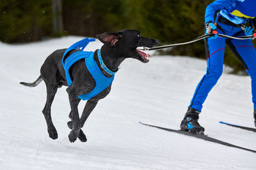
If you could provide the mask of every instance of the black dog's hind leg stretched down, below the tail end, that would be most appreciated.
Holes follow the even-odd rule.
[[[45,103],[45,106],[44,106],[44,110],[42,112],[43,112],[44,117],[45,117],[45,121],[46,121],[46,124],[47,124],[47,131],[49,133],[50,138],[57,139],[58,138],[58,133],[56,131],[56,128],[52,124],[51,105],[52,105],[52,101],[54,99],[54,96],[57,92],[58,85],[46,84],[46,89],[47,89],[47,99],[46,99],[46,103]]]

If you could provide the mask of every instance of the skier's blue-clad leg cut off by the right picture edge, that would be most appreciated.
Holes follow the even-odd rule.
[[[240,34],[239,36],[244,36]],[[246,69],[246,72],[252,79],[252,102],[253,108],[256,110],[256,50],[250,39],[237,40],[232,39],[227,41],[227,45],[230,47],[232,52],[236,57],[241,60]],[[256,111],[254,111],[253,116],[255,117],[256,126]]]

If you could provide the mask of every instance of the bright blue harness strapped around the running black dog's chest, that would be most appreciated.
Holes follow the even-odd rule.
[[[70,74],[69,74],[68,70],[75,62],[77,62],[77,60],[81,60],[81,59],[85,60],[86,67],[87,67],[88,71],[90,72],[90,74],[92,74],[92,76],[96,82],[96,86],[92,90],[92,92],[78,96],[80,99],[82,99],[84,101],[90,100],[92,97],[94,97],[97,94],[99,94],[100,92],[102,92],[102,90],[109,87],[109,85],[111,85],[111,83],[113,82],[113,80],[115,78],[115,72],[110,71],[108,69],[108,67],[106,67],[106,65],[104,64],[102,57],[100,55],[100,50],[98,50],[98,53],[97,53],[97,55],[99,57],[100,67],[102,67],[102,69],[104,69],[104,71],[106,71],[108,74],[113,75],[110,78],[104,76],[104,74],[102,74],[102,72],[100,71],[99,66],[97,66],[97,62],[93,59],[94,52],[84,52],[83,51],[84,48],[92,41],[95,41],[95,39],[84,38],[81,41],[74,43],[65,51],[65,53],[63,55],[63,59],[62,59],[62,64],[63,64],[63,68],[65,69],[65,76],[66,76],[68,86],[70,86],[72,84],[72,80],[70,78]],[[72,53],[72,55],[69,55],[67,57],[67,59],[65,59],[65,55],[68,52],[70,52],[71,50],[75,50],[75,49],[81,50],[81,51]]]

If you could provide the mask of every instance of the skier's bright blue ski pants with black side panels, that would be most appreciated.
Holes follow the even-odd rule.
[[[242,31],[241,27],[232,27],[221,23],[218,23],[217,31],[228,36],[244,36],[244,31]],[[256,109],[256,50],[250,39],[225,38],[205,39],[207,71],[198,83],[189,107],[198,111],[202,110],[206,97],[222,74],[225,44],[243,63],[246,72],[252,79],[252,101],[254,109]]]

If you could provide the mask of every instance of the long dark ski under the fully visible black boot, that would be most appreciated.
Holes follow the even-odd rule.
[[[186,132],[186,131],[180,131],[180,130],[175,130],[175,129],[168,129],[168,128],[165,128],[165,127],[159,127],[159,126],[156,126],[156,125],[150,125],[150,124],[143,124],[141,122],[139,122],[141,125],[147,125],[147,126],[150,126],[150,127],[156,127],[158,129],[162,129],[164,131],[169,131],[169,132],[175,132],[175,133],[178,133],[178,134],[184,134],[186,136],[192,136],[194,138],[199,138],[199,139],[204,139],[205,141],[211,141],[213,143],[219,143],[220,145],[225,145],[225,146],[230,146],[230,147],[233,147],[233,148],[239,148],[241,150],[247,150],[247,151],[250,151],[250,152],[253,152],[253,153],[256,153],[256,150],[250,150],[248,148],[243,148],[241,146],[237,146],[237,145],[233,145],[231,143],[227,143],[225,141],[220,141],[218,139],[215,139],[215,138],[211,138],[205,134],[193,134],[191,132]]]

